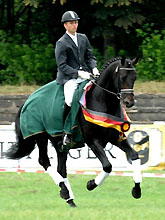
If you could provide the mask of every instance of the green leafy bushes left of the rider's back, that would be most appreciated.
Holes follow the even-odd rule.
[[[1,84],[43,85],[55,79],[56,63],[52,44],[42,45],[39,40],[27,44],[5,42],[0,33]],[[42,37],[42,36],[41,36]]]

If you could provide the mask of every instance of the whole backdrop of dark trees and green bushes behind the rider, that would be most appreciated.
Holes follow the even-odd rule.
[[[165,79],[164,0],[0,0],[0,83],[43,85],[56,78],[54,47],[61,16],[74,10],[98,68],[108,59],[141,55],[139,78]]]

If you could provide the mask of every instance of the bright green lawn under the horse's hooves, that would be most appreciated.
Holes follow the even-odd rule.
[[[163,220],[165,179],[143,178],[142,198],[134,199],[132,177],[111,176],[92,192],[87,175],[69,175],[77,208],[59,197],[48,174],[0,173],[1,220]]]

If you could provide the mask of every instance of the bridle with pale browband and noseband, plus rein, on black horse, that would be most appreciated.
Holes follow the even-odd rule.
[[[119,66],[117,66],[115,72],[118,73],[120,70],[135,71],[136,69],[135,69],[134,67],[127,68],[127,67],[119,67]],[[92,75],[92,77],[94,77],[94,76]],[[115,96],[117,97],[117,99],[121,99],[121,97],[122,97],[121,94],[123,94],[123,93],[134,93],[134,90],[133,90],[133,89],[120,89],[120,92],[115,93],[115,92],[112,92],[112,91],[110,91],[110,90],[108,90],[108,89],[105,89],[104,87],[98,85],[98,84],[97,84],[95,81],[93,81],[93,80],[91,80],[91,82],[92,82],[95,86],[97,86],[98,88],[104,90],[105,92],[108,92],[108,93],[110,93],[110,94],[112,94],[112,95],[115,95]]]

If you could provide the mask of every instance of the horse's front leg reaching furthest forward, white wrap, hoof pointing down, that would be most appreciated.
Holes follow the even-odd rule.
[[[132,195],[138,199],[141,197],[140,183],[142,182],[141,162],[138,153],[130,146],[127,139],[118,142],[117,146],[126,153],[127,159],[132,162],[133,180],[135,186],[132,189]]]

